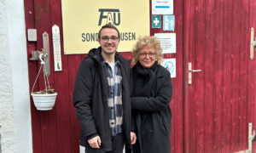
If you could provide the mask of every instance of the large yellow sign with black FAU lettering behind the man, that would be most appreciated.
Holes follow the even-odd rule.
[[[61,8],[64,54],[97,48],[98,31],[108,23],[119,29],[119,52],[131,51],[138,37],[150,32],[148,0],[61,0]]]

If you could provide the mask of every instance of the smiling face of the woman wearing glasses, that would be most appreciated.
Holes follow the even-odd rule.
[[[155,62],[155,48],[144,46],[139,51],[139,62],[143,67],[150,68],[152,65],[154,65]]]

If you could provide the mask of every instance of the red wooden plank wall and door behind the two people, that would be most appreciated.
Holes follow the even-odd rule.
[[[49,82],[58,92],[55,107],[37,111],[32,102],[33,151],[77,153],[80,127],[73,107],[73,83],[85,54],[63,54],[61,0],[24,0],[24,4],[26,29],[38,31],[38,41],[27,42],[28,59],[33,50],[43,48],[44,31],[49,33],[53,57],[51,26],[61,30],[62,71],[53,71],[50,59]],[[256,59],[249,59],[255,13],[253,0],[174,0],[177,53],[164,55],[177,61],[177,76],[172,78],[172,152],[247,150],[248,122],[256,129]],[[151,29],[150,34],[160,32],[162,28]],[[131,59],[129,52],[121,54]],[[201,70],[192,74],[191,85],[189,62]],[[39,63],[29,60],[28,65],[32,88]],[[39,82],[36,88],[43,86]]]

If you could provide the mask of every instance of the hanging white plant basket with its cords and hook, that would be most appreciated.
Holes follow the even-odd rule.
[[[45,62],[44,62],[44,59],[42,59],[43,55],[45,56],[45,54],[40,54],[39,55],[39,59],[41,60],[41,66],[40,66],[40,69],[38,71],[38,76],[39,76],[40,71],[43,67],[45,88],[44,88],[43,91],[33,92],[35,84],[38,80],[38,76],[37,76],[37,78],[36,78],[36,80],[33,84],[33,87],[32,87],[32,94],[31,95],[32,95],[32,99],[34,101],[34,105],[36,106],[37,110],[48,111],[48,110],[52,110],[52,108],[54,107],[57,93],[55,92],[54,89],[49,87],[48,77],[47,77],[46,72],[45,72]]]

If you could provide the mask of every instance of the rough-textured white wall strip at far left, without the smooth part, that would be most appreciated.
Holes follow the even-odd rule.
[[[15,116],[5,1],[0,2],[0,134],[2,152],[15,152]]]

